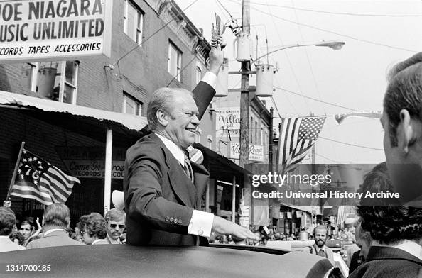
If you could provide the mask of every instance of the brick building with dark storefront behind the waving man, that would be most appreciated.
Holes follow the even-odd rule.
[[[1,199],[25,141],[27,150],[81,180],[67,201],[73,219],[101,213],[103,174],[96,177],[75,165],[104,167],[106,133],[112,130],[111,188],[122,190],[119,165],[146,123],[148,94],[166,86],[193,89],[205,74],[210,45],[174,1],[114,0],[112,10],[111,57],[1,63],[0,56]],[[205,115],[202,124],[209,121]],[[207,145],[207,134],[198,140]],[[32,199],[13,197],[12,204],[21,217],[39,215],[43,208]]]

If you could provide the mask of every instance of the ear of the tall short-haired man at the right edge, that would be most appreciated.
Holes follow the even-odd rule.
[[[416,121],[412,120],[409,111],[401,109],[400,123],[397,126],[397,140],[399,141],[399,148],[405,154],[409,152],[409,146],[413,145],[416,141],[418,132],[416,124]]]

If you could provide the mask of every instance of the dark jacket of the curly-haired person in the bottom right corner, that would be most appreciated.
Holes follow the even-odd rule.
[[[399,248],[372,246],[365,263],[349,277],[422,277],[422,260]]]

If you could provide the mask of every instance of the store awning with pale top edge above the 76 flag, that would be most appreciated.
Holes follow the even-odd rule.
[[[119,140],[125,141],[118,145],[134,143],[134,140],[142,135],[139,130],[146,126],[145,117],[65,104],[6,91],[0,91],[0,106],[21,109],[22,113],[29,116],[56,126],[63,126],[99,141],[104,141],[104,130],[109,127],[114,133],[123,135],[115,138],[116,143],[119,143]]]

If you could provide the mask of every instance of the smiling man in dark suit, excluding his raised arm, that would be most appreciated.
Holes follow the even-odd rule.
[[[187,159],[199,116],[190,91],[160,88],[151,96],[147,119],[153,133],[126,152],[126,243],[195,245],[211,230],[256,239],[249,229],[196,209],[209,177],[205,167]]]

